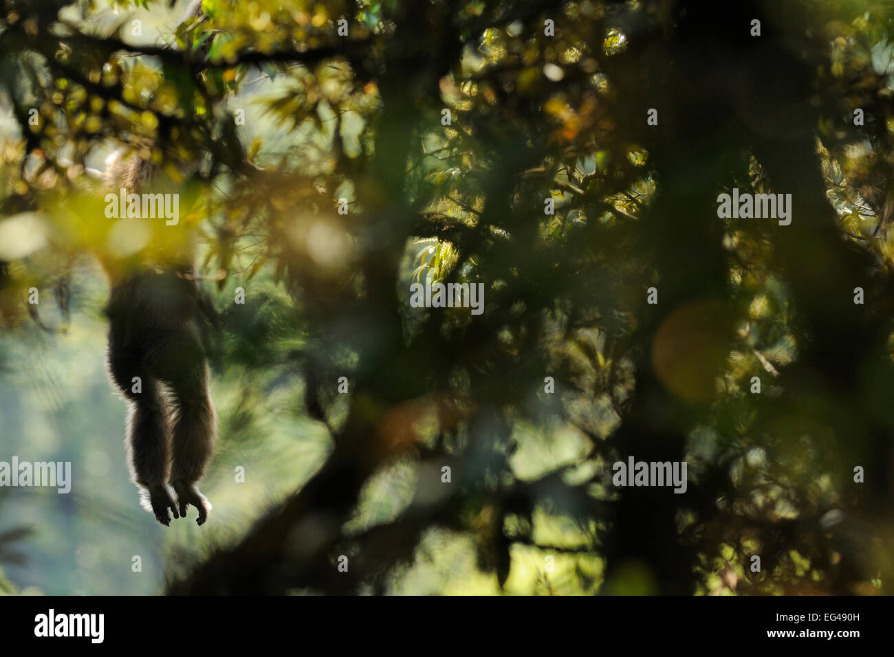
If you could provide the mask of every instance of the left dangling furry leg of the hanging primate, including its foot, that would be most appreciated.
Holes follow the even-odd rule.
[[[136,351],[113,326],[109,331],[109,369],[130,406],[124,438],[131,481],[140,487],[140,503],[164,526],[171,525],[168,510],[179,518],[177,505],[167,486],[170,470],[171,425],[167,403],[158,381],[142,363]],[[135,389],[133,377],[139,377]],[[139,391],[139,392],[138,392]]]

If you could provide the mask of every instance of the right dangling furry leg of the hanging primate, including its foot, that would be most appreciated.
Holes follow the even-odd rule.
[[[201,342],[192,335],[179,343],[176,371],[165,377],[176,399],[173,425],[171,485],[177,493],[180,515],[186,518],[188,505],[196,507],[196,524],[203,525],[211,503],[198,490],[198,480],[214,451],[217,434],[215,404],[208,391],[208,366]]]

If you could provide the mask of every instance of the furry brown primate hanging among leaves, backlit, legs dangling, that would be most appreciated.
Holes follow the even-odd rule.
[[[190,3],[184,20],[196,17],[201,17],[200,0]],[[189,165],[179,168],[182,173]],[[106,200],[136,195],[157,208],[164,194],[179,193],[169,172],[139,155],[115,151],[105,163]],[[124,215],[124,203],[117,205]],[[169,526],[171,515],[186,518],[191,505],[202,525],[211,504],[198,481],[217,433],[204,339],[209,306],[196,282],[190,228],[179,217],[139,221],[154,222],[152,234],[164,242],[161,255],[147,248],[136,257],[100,257],[111,283],[105,309],[108,370],[130,406],[125,442],[143,507]]]

